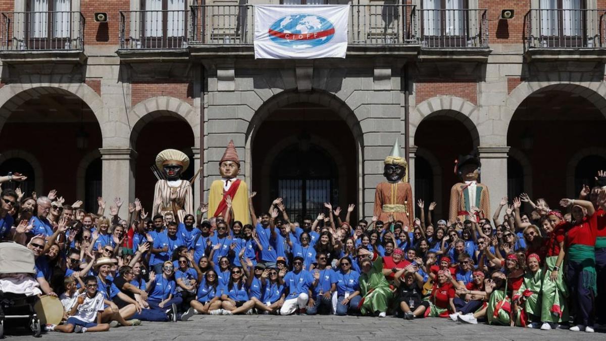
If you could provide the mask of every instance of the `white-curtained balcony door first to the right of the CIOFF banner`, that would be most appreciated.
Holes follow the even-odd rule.
[[[421,32],[427,47],[466,47],[467,0],[422,0]]]

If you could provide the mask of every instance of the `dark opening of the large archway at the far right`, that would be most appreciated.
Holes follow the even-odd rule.
[[[603,146],[606,129],[602,112],[585,98],[594,100],[592,91],[565,86],[566,89],[548,86],[528,95],[517,107],[507,130],[508,146],[519,154],[518,160],[528,160],[535,175],[532,184],[524,183],[524,191],[533,192],[535,198],[545,198],[551,206],[562,197],[578,195],[582,184],[576,184],[576,163],[570,170],[567,165],[579,150]],[[594,168],[598,164],[587,163],[591,178],[600,169]],[[580,175],[578,181],[587,175]],[[517,196],[519,192],[509,195]]]

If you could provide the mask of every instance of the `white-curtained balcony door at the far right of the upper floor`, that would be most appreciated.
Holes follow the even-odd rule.
[[[539,2],[542,47],[581,47],[585,40],[584,0]]]

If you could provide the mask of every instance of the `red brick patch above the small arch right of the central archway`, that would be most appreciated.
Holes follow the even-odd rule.
[[[451,95],[478,104],[478,83],[475,81],[418,81],[415,84],[416,103],[438,95]]]

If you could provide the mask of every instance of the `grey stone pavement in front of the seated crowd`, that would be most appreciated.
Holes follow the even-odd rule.
[[[17,332],[18,329],[15,329]],[[7,340],[33,340],[29,334]],[[468,325],[448,319],[403,320],[395,317],[351,316],[194,316],[187,322],[151,323],[112,328],[106,333],[49,332],[42,340],[606,340],[605,333],[541,331],[484,324]]]

